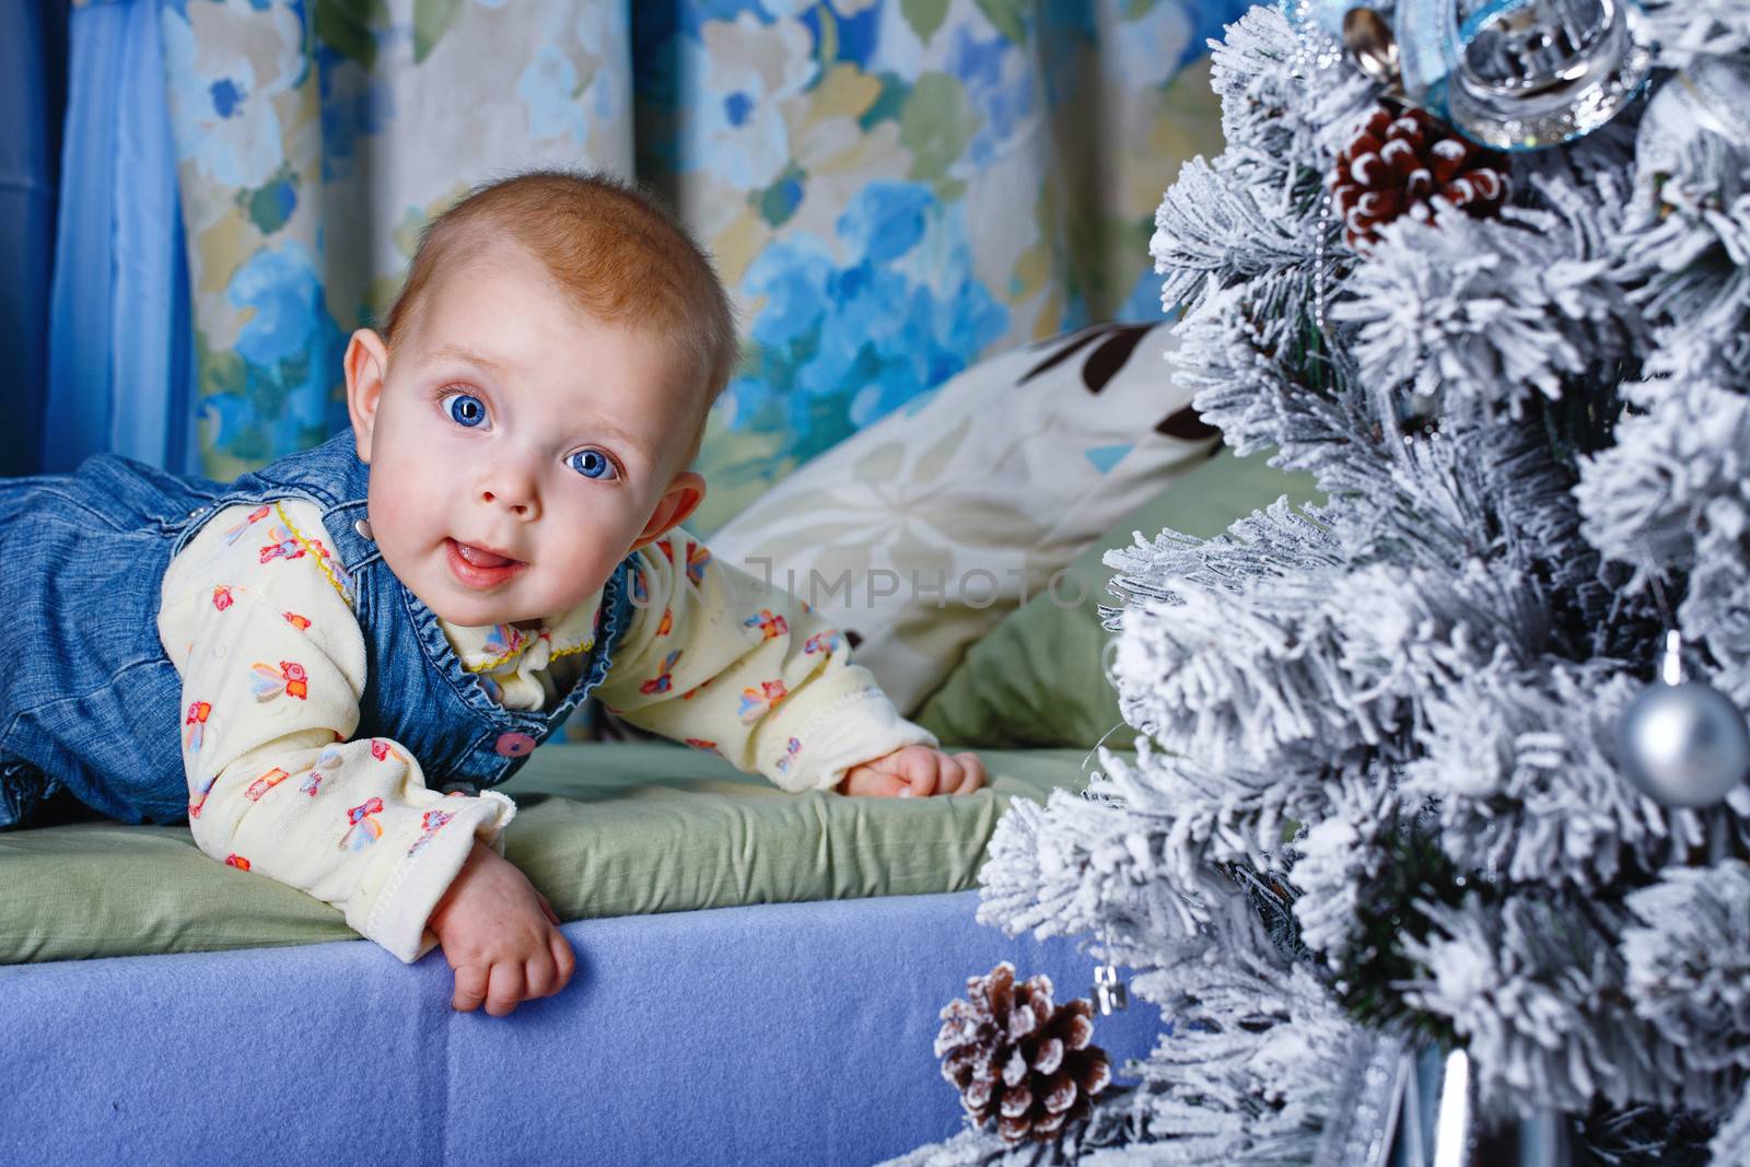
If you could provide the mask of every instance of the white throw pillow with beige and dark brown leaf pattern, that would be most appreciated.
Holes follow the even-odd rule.
[[[836,621],[901,712],[1216,432],[1174,383],[1166,324],[990,357],[791,472],[712,553]],[[1060,602],[1078,602],[1059,581]]]

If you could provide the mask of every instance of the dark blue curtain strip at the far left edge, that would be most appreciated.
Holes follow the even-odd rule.
[[[0,474],[40,465],[65,59],[65,0],[0,3]]]

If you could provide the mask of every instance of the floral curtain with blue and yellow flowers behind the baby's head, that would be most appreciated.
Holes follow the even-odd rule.
[[[422,224],[539,164],[635,177],[712,250],[744,364],[709,532],[982,353],[1158,315],[1150,217],[1220,149],[1232,0],[163,0],[201,460],[345,423],[346,334]]]

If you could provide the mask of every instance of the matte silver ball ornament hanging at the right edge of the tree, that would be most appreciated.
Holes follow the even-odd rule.
[[[1617,759],[1664,807],[1712,807],[1750,777],[1743,712],[1704,681],[1684,681],[1682,637],[1666,633],[1659,681],[1617,723]]]

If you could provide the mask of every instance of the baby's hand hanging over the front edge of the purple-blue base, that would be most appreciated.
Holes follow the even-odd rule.
[[[478,838],[425,926],[455,969],[450,1004],[462,1013],[485,1003],[486,1013],[504,1017],[522,1001],[551,997],[578,966],[553,905]]]

